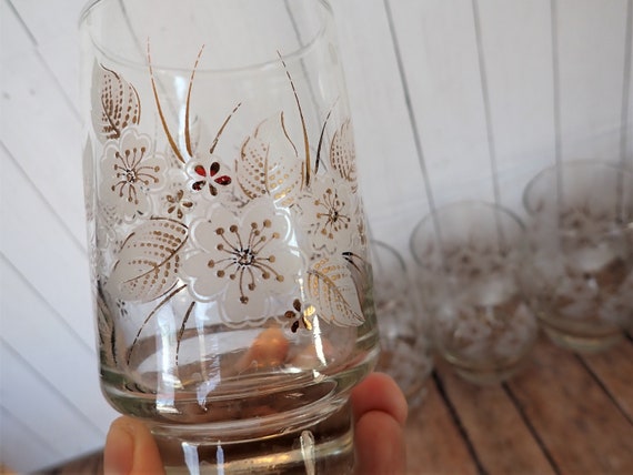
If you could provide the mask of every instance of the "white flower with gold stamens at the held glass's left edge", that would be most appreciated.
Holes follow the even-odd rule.
[[[165,169],[164,158],[152,151],[151,139],[125,129],[103,149],[101,199],[127,219],[149,214],[149,194],[163,185]]]

